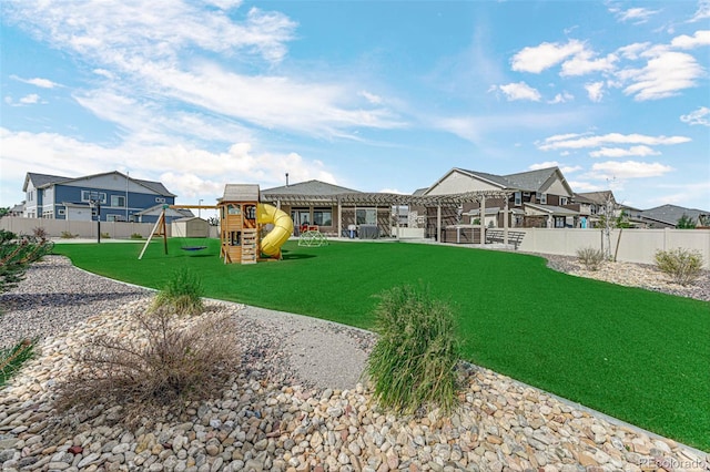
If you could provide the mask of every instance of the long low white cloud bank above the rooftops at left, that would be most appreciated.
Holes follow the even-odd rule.
[[[105,163],[121,163],[132,177],[155,179],[181,199],[200,195],[209,201],[221,196],[224,184],[260,182],[282,185],[285,172],[294,182],[320,179],[337,183],[317,160],[296,153],[255,152],[248,143],[237,143],[223,152],[187,145],[153,145],[124,142],[115,147],[85,143],[55,133],[13,132],[0,127],[2,178],[23,182],[27,156],[41,162],[42,172],[79,176],[108,172]]]

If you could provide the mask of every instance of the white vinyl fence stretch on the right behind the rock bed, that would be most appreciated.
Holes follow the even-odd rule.
[[[576,256],[577,249],[592,247],[601,249],[600,229],[576,228],[514,228],[525,237],[518,250],[541,254]],[[618,244],[618,248],[617,248]],[[611,254],[617,260],[655,264],[657,250],[674,248],[698,250],[703,266],[710,269],[710,229],[615,229],[611,233]]]

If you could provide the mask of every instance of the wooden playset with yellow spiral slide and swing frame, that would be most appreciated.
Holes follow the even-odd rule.
[[[168,208],[216,208],[220,215],[220,258],[224,264],[256,264],[258,260],[278,260],[281,246],[293,233],[291,216],[273,205],[258,203],[260,188],[255,184],[226,184],[224,196],[216,206],[211,205],[164,205],[163,213],[155,222],[151,236],[145,242],[139,259],[154,236],[162,236],[164,253],[168,254],[168,230],[165,209]],[[273,228],[266,232],[267,225]],[[262,237],[263,235],[263,237]],[[206,246],[183,247],[184,250],[202,250]],[[261,255],[266,256],[262,258]]]

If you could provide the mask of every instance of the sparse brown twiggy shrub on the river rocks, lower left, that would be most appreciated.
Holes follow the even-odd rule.
[[[179,413],[187,402],[219,398],[240,362],[232,317],[139,310],[132,318],[134,337],[99,334],[70,355],[77,368],[58,384],[60,411],[115,404],[116,420],[131,425],[163,407]]]

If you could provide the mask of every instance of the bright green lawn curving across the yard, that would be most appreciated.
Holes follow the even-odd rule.
[[[223,265],[219,242],[57,245],[87,270],[160,288],[182,266],[206,296],[373,326],[374,295],[429,285],[456,310],[467,360],[710,451],[710,304],[568,276],[539,257],[460,247],[284,246],[284,260]]]

